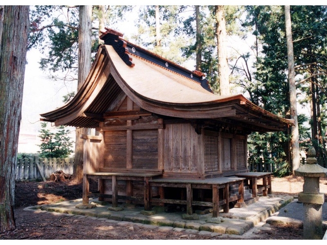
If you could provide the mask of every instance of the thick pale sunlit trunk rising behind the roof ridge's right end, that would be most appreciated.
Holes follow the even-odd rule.
[[[220,95],[229,95],[229,67],[227,62],[227,33],[224,6],[215,6]]]

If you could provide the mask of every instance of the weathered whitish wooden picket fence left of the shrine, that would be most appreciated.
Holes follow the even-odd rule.
[[[65,174],[73,174],[73,158],[18,158],[15,179],[36,180],[49,179],[50,175],[58,170]],[[44,179],[43,179],[44,180]]]

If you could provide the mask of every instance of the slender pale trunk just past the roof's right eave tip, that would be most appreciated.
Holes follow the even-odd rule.
[[[294,120],[294,126],[291,128],[291,147],[292,147],[292,171],[300,166],[300,148],[298,143],[298,124],[297,124],[297,108],[296,108],[296,87],[294,72],[294,53],[291,27],[290,6],[285,6],[285,27],[287,42],[287,61],[288,61],[288,79],[290,90],[290,114]]]

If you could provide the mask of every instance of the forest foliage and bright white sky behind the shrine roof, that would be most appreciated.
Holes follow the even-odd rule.
[[[201,70],[219,94],[216,11],[213,5],[104,6],[103,19],[100,5],[93,6],[92,57],[98,46],[98,30],[108,27],[166,59]],[[243,93],[251,102],[287,118],[290,104],[284,7],[225,6],[224,17],[231,93]],[[294,5],[291,18],[300,147],[305,150],[313,144],[320,160],[326,161],[327,7]],[[78,8],[31,7],[30,19],[21,133],[26,128],[39,131],[39,114],[63,105],[63,96],[69,100],[77,89]],[[35,82],[37,74],[43,76],[42,83]],[[277,174],[290,174],[289,143],[289,132],[252,133],[249,162],[259,162],[262,157],[278,166]]]

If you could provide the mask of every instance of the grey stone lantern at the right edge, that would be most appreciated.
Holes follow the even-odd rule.
[[[294,170],[296,176],[303,176],[303,192],[298,193],[298,201],[303,203],[303,238],[323,238],[324,193],[319,192],[319,178],[327,177],[327,169],[317,164],[316,150],[309,148],[307,163]]]

